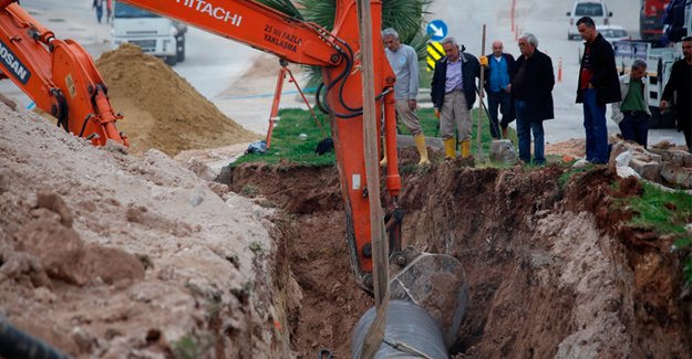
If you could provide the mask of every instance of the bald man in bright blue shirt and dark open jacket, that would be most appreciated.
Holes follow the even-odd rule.
[[[512,77],[515,60],[512,54],[505,53],[502,41],[493,42],[493,53],[486,56],[488,66],[485,67],[485,91],[488,94],[488,115],[490,120],[490,136],[499,139],[507,138],[507,126],[514,120],[512,108]],[[503,115],[498,122],[497,109]]]

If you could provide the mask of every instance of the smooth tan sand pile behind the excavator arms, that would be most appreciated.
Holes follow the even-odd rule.
[[[117,122],[134,154],[156,148],[174,156],[182,150],[247,142],[257,135],[226,117],[163,61],[123,44],[104,53],[96,67],[109,86]]]

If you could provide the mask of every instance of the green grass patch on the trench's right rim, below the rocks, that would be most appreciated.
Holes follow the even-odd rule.
[[[685,225],[692,222],[692,196],[643,183],[642,196],[630,199],[628,207],[636,212],[630,225],[676,239],[673,250],[686,253],[683,261],[684,286],[692,287],[692,235],[685,230]]]

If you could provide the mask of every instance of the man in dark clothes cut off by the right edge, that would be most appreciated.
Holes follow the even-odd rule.
[[[673,63],[670,80],[661,96],[661,108],[668,107],[678,93],[675,99],[675,119],[678,130],[684,134],[688,151],[692,152],[692,36],[682,39],[683,59]]]

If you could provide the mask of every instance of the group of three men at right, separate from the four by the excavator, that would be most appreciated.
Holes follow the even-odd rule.
[[[609,159],[606,104],[612,104],[612,119],[626,140],[647,148],[649,134],[649,88],[645,81],[647,62],[636,60],[630,73],[618,77],[612,46],[596,30],[590,18],[577,21],[586,41],[581,59],[577,102],[583,103],[586,128],[586,160],[606,163]],[[659,108],[665,110],[675,97],[675,122],[684,134],[688,150],[692,152],[692,36],[682,39],[683,59],[673,64]]]

